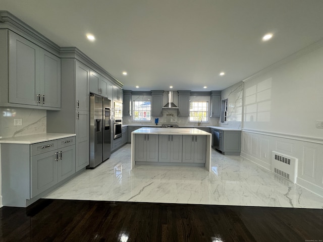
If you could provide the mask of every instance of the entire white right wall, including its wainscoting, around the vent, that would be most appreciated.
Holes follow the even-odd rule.
[[[323,196],[323,47],[244,83],[242,153],[271,169],[271,152],[298,159],[297,184]]]

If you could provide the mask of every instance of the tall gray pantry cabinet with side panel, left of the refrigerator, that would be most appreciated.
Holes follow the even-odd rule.
[[[47,133],[76,134],[76,171],[89,164],[90,68],[75,58],[61,59],[61,111],[47,111]]]

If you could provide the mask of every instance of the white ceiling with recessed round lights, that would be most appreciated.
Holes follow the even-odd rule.
[[[0,0],[0,9],[130,90],[223,90],[323,38],[322,0]]]

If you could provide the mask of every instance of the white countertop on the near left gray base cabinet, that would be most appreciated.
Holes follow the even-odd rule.
[[[35,144],[44,141],[63,139],[76,136],[76,134],[56,134],[56,133],[44,133],[36,135],[24,135],[17,137],[9,137],[0,139],[0,143],[7,144]]]

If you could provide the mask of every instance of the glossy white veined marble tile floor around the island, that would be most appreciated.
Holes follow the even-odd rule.
[[[45,198],[323,208],[323,198],[240,156],[212,150],[204,167],[137,165],[130,145],[114,152]]]

